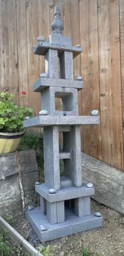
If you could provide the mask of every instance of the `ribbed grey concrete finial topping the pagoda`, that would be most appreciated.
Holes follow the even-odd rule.
[[[55,19],[53,23],[51,23],[51,28],[54,31],[54,34],[62,34],[62,30],[64,29],[63,22],[59,19],[60,13],[59,13],[59,6],[55,7],[54,12]]]

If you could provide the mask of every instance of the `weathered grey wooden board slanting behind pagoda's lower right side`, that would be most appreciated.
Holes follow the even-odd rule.
[[[81,153],[82,180],[92,182],[97,202],[124,214],[124,172]]]

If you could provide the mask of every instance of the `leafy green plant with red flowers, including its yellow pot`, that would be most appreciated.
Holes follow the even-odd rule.
[[[23,91],[19,96],[25,98]],[[14,103],[14,94],[4,89],[0,93],[0,154],[15,152],[25,133],[23,121],[25,117],[31,117],[33,109],[17,106]]]

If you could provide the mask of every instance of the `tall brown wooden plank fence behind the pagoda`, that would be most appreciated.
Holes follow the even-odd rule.
[[[59,5],[64,35],[83,52],[74,60],[74,76],[82,75],[79,114],[98,109],[100,124],[81,128],[82,151],[123,170],[124,1],[0,0],[0,85],[15,93],[26,90],[34,115],[39,93],[32,85],[44,72],[44,58],[33,54],[39,35],[48,38],[54,7]]]

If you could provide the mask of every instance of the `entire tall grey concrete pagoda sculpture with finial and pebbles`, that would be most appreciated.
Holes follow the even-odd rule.
[[[94,187],[82,184],[80,146],[80,125],[98,124],[98,111],[91,116],[78,116],[78,90],[83,88],[83,82],[80,76],[74,80],[73,58],[82,49],[79,44],[72,47],[71,38],[62,35],[58,6],[54,15],[51,25],[54,33],[46,42],[40,36],[34,46],[35,54],[45,56],[45,73],[34,84],[34,92],[41,95],[42,111],[24,121],[24,127],[44,127],[45,183],[35,185],[40,206],[26,212],[42,241],[102,225],[101,214],[90,211]],[[56,109],[56,98],[61,98],[61,110]],[[59,151],[59,132],[63,133],[62,151]],[[60,177],[60,159],[64,161],[63,177]]]

